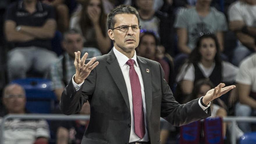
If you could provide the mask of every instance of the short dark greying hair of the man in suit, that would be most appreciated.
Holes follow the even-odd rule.
[[[138,24],[140,24],[140,16],[136,8],[129,5],[120,5],[110,11],[107,18],[108,29],[113,29],[115,25],[115,15],[117,14],[134,14],[138,18]]]

